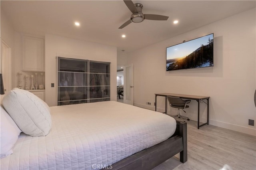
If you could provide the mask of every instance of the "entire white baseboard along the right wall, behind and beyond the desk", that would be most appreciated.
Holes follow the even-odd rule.
[[[150,109],[152,111],[155,110],[155,106],[142,105],[140,103],[133,103],[133,104],[134,104],[134,106],[142,107],[144,109]],[[165,109],[157,108],[157,111],[163,113],[163,112],[165,112]],[[190,115],[189,118],[190,118],[190,120],[197,121],[197,115]],[[202,117],[202,118],[200,118],[200,122],[207,122],[207,120],[206,120],[206,118]],[[216,120],[212,120],[212,119],[209,119],[209,125],[213,125],[213,126],[216,126],[216,127],[222,127],[222,128],[226,128],[226,129],[229,129],[229,130],[234,130],[234,131],[237,131],[237,132],[241,132],[241,133],[256,136],[256,129],[255,128],[242,127],[242,126],[239,126],[239,125],[234,125],[234,124],[221,122],[221,121],[216,121]]]

